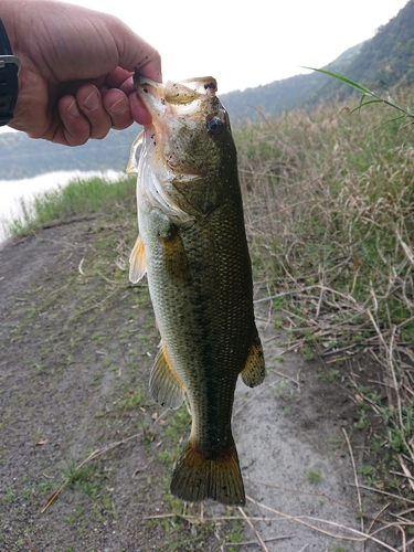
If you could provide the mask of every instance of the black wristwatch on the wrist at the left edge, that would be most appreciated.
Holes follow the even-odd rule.
[[[0,127],[13,118],[18,99],[20,60],[13,55],[3,22],[0,19]]]

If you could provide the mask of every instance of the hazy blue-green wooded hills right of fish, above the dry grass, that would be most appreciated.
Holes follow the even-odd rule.
[[[376,34],[347,50],[327,67],[361,82],[376,92],[414,82],[414,0]],[[314,107],[332,98],[344,99],[352,89],[319,73],[297,75],[266,86],[222,96],[232,120],[257,119],[257,110],[278,115],[296,107]]]

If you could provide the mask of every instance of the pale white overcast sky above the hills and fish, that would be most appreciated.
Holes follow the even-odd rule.
[[[219,92],[321,67],[373,36],[407,0],[72,0],[114,13],[161,53],[163,76],[211,75]],[[272,8],[270,8],[272,7]]]

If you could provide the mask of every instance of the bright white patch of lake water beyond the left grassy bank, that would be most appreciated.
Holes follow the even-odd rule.
[[[76,178],[103,177],[108,181],[118,180],[125,172],[117,171],[59,171],[39,174],[22,180],[0,180],[0,243],[7,237],[1,221],[9,221],[21,214],[20,198],[29,201],[33,195],[65,185]]]

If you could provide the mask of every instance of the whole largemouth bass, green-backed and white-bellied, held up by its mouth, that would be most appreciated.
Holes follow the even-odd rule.
[[[246,385],[262,383],[265,363],[229,117],[212,77],[135,81],[152,124],[128,166],[138,172],[139,226],[129,277],[136,283],[147,274],[161,335],[152,396],[177,408],[185,394],[192,414],[171,492],[244,505],[231,428],[234,391],[238,374]]]

